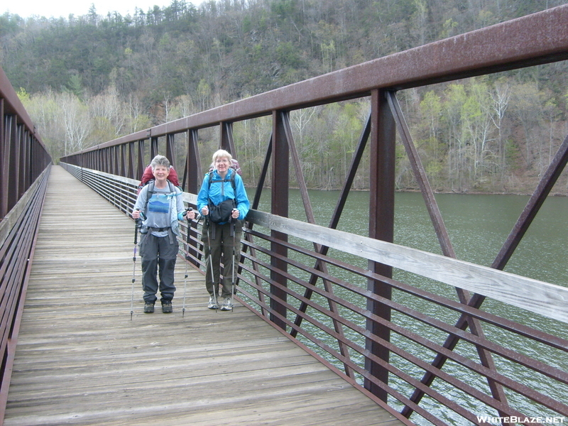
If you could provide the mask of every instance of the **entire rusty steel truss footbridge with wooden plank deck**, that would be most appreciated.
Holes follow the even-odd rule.
[[[491,266],[481,266],[456,258],[396,97],[566,60],[566,22],[568,6],[548,9],[160,124],[58,165],[0,73],[4,425],[568,422],[568,286],[504,271],[564,176],[568,136]],[[368,119],[322,226],[290,113],[359,98]],[[252,209],[236,307],[206,309],[193,221],[181,225],[173,314],[144,315],[129,216],[136,178],[162,153],[195,207],[211,155],[203,135],[217,131],[214,146],[239,158],[234,124],[266,117],[263,168],[246,182]],[[397,137],[440,253],[393,244]],[[337,229],[360,166],[371,188],[366,235]],[[289,218],[290,182],[305,220]],[[263,191],[269,211],[260,209]]]

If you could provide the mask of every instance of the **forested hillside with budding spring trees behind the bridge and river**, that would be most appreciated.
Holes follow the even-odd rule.
[[[173,0],[134,16],[0,16],[0,65],[54,158],[561,0]],[[400,92],[439,191],[530,192],[568,133],[567,62]],[[302,167],[338,187],[366,99],[294,111]],[[236,124],[253,180],[270,125]],[[207,136],[206,136],[207,137]],[[215,136],[212,135],[211,138]],[[203,150],[209,155],[210,150]],[[413,189],[404,150],[399,189]],[[356,189],[366,189],[365,179]],[[565,173],[555,191],[567,194]]]

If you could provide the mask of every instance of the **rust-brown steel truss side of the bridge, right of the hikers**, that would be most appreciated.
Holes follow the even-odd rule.
[[[525,413],[528,420],[520,422],[528,424],[532,417],[550,413],[554,420],[555,415],[568,414],[565,398],[557,398],[556,391],[551,390],[559,390],[561,396],[567,394],[568,368],[562,361],[567,343],[557,334],[566,324],[562,314],[562,304],[565,306],[567,300],[565,289],[500,271],[564,170],[568,139],[542,175],[491,268],[474,267],[455,260],[395,94],[400,89],[566,60],[566,22],[568,5],[548,9],[132,133],[67,155],[62,162],[83,176],[91,169],[106,177],[119,175],[134,181],[153,155],[163,153],[178,173],[182,172],[182,187],[192,194],[186,196],[192,202],[190,197],[197,194],[205,170],[200,164],[200,131],[218,129],[219,147],[239,158],[233,124],[271,117],[272,133],[258,182],[246,182],[256,185],[256,192],[241,253],[241,300],[322,356],[330,366],[341,368],[351,383],[403,419],[435,425],[495,421],[510,424],[515,422],[511,418],[517,420],[515,416]],[[354,149],[341,195],[336,206],[331,207],[329,227],[312,229],[315,217],[290,126],[290,111],[361,98],[369,100],[371,111]],[[432,257],[391,245],[397,132],[444,256]],[[334,229],[364,152],[369,157],[365,165],[370,188],[368,236],[337,234]],[[286,219],[290,170],[295,170],[308,224]],[[270,214],[258,209],[268,175]],[[119,187],[119,192],[125,190],[122,184]],[[127,213],[133,197],[124,195],[122,205]],[[189,234],[190,261],[202,267],[199,229]],[[335,246],[338,241],[341,247]],[[356,256],[352,261],[344,258],[349,247],[354,251],[349,256]],[[420,293],[413,278],[400,279],[399,273],[417,276],[420,283],[433,281],[433,288],[452,286],[459,305],[452,305],[455,296],[438,290]],[[535,315],[540,316],[531,317],[538,318],[534,320],[535,328],[539,328],[541,318],[550,318],[555,325],[546,330],[548,334],[540,334],[518,324],[523,321],[506,322],[480,310],[486,300],[486,305],[503,302],[522,312],[537,310]],[[427,315],[432,305],[443,307],[444,318]],[[493,336],[495,330],[506,333],[504,342]],[[337,343],[332,346],[328,337]],[[538,354],[530,354],[522,344],[515,346],[517,337],[518,342],[542,345],[542,351],[555,358],[550,364],[539,361]],[[449,373],[449,366],[457,366],[459,372]],[[532,376],[542,377],[540,383],[547,385],[528,386],[525,378]],[[550,388],[547,381],[552,383]],[[479,420],[478,414],[488,417]],[[499,417],[507,420],[495,420]]]

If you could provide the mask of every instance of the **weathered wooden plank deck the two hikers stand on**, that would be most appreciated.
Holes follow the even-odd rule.
[[[133,222],[51,171],[4,425],[400,425],[237,304],[207,310],[178,262],[173,314],[143,314]]]

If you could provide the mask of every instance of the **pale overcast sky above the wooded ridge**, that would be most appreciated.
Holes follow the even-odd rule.
[[[187,1],[187,3],[200,4],[201,1]],[[154,5],[170,6],[170,0],[11,0],[2,1],[0,6],[0,15],[10,12],[14,15],[19,15],[22,18],[28,16],[45,16],[46,18],[60,16],[68,18],[70,13],[75,16],[87,15],[91,4],[97,9],[97,14],[106,16],[107,12],[119,12],[122,16],[128,13],[134,14],[134,8],[142,9],[147,12],[148,9],[153,8]]]

